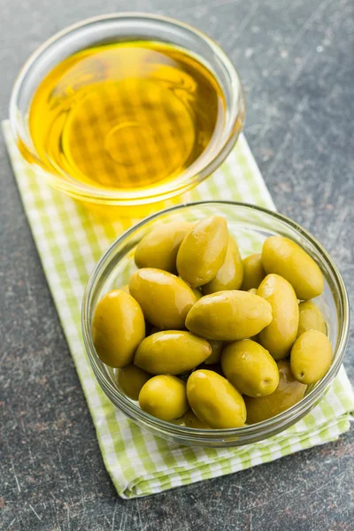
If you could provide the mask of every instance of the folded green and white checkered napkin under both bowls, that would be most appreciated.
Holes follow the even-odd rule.
[[[27,218],[96,427],[105,466],[119,496],[146,496],[260,465],[289,453],[334,441],[350,427],[354,394],[343,369],[320,404],[293,427],[266,441],[235,449],[189,448],[135,426],[96,383],[81,339],[81,298],[104,250],[135,222],[100,225],[70,197],[50,189],[19,155],[10,126],[4,135]],[[265,182],[241,135],[227,161],[184,201],[235,199],[274,209]],[[58,358],[60,363],[60,358]]]

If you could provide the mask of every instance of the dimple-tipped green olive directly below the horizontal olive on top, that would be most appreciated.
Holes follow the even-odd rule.
[[[268,350],[250,339],[228,343],[222,352],[221,366],[227,380],[243,395],[266,396],[278,387],[275,361]]]

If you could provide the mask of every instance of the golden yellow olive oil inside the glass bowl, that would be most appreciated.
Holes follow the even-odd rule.
[[[172,180],[219,135],[225,118],[213,74],[161,42],[81,50],[37,89],[29,129],[42,164],[106,189]]]

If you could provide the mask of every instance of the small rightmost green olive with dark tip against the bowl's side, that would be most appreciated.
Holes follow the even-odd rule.
[[[291,349],[291,372],[297,381],[315,383],[327,373],[333,358],[331,342],[319,330],[306,330]]]

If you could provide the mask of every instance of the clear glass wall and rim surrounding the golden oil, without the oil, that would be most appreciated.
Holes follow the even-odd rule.
[[[103,189],[73,179],[69,174],[46,169],[35,150],[28,127],[28,113],[42,79],[65,58],[95,45],[108,42],[148,40],[166,42],[186,50],[202,62],[219,81],[225,96],[222,129],[189,168],[168,181],[135,189]],[[138,206],[180,195],[214,172],[242,130],[245,102],[242,84],[234,66],[215,42],[193,27],[161,16],[119,13],[87,19],[51,37],[27,60],[19,73],[10,103],[12,133],[27,161],[56,189],[89,203]]]

